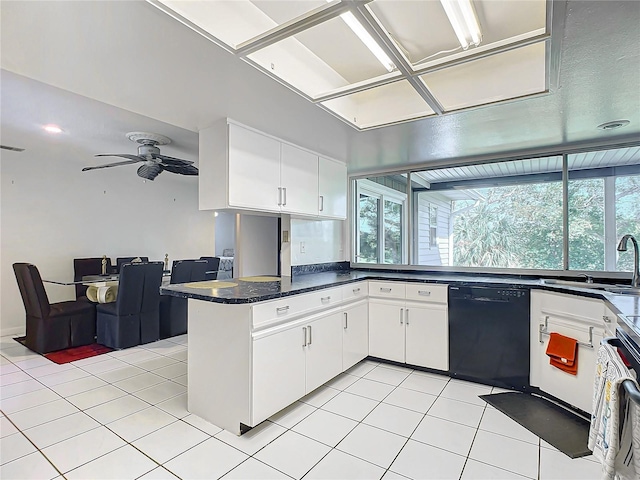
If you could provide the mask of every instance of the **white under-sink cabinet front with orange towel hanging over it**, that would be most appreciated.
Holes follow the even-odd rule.
[[[543,319],[544,321],[544,319]],[[579,323],[563,317],[549,316],[547,318],[547,331],[557,332],[567,337],[575,338],[582,342],[589,341],[588,323]],[[585,412],[591,412],[593,396],[593,379],[596,374],[597,346],[602,340],[602,328],[593,329],[594,348],[578,346],[578,373],[571,375],[549,364],[546,355],[549,336],[543,335],[543,343],[535,338],[537,345],[533,346],[537,351],[539,362],[539,385],[541,390],[578,407]],[[532,339],[533,340],[533,339]],[[533,343],[533,342],[532,342]]]

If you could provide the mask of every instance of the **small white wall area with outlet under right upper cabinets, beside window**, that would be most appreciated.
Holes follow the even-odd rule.
[[[291,265],[347,259],[344,220],[291,219]],[[304,243],[304,253],[301,244]]]

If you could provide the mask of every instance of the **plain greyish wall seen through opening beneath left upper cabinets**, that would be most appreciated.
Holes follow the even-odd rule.
[[[277,275],[278,219],[238,215],[234,276]]]

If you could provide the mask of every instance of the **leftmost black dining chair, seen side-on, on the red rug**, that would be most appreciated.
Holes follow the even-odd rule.
[[[35,265],[14,263],[13,271],[27,315],[27,348],[44,354],[95,342],[95,305],[83,300],[49,303]]]

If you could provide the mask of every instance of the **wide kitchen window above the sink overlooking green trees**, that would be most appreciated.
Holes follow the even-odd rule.
[[[380,202],[371,263],[631,271],[633,255],[616,247],[625,234],[640,240],[638,146],[375,177],[358,189]]]

